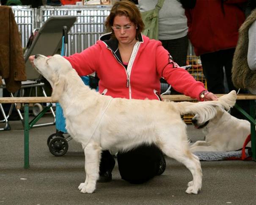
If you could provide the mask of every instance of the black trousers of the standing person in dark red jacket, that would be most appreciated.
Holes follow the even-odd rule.
[[[202,54],[200,56],[204,76],[206,77],[207,89],[209,92],[215,94],[222,94],[225,92],[224,86],[224,71],[225,69],[228,92],[231,90],[238,90],[234,87],[231,78],[232,61],[235,49],[226,49],[221,51],[216,51],[208,54]],[[246,90],[240,90],[239,93],[248,93]],[[249,113],[249,101],[248,100],[237,100],[237,104],[242,107],[247,113]],[[236,108],[231,108],[231,115],[239,118],[245,119],[245,117],[236,110]]]

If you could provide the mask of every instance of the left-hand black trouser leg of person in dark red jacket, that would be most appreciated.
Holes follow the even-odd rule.
[[[223,64],[220,60],[218,51],[200,56],[204,76],[207,82],[209,92],[218,94],[224,93],[224,73]]]

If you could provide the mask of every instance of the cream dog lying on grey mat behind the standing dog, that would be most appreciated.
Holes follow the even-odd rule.
[[[206,122],[198,122],[196,114],[192,123],[195,128],[202,129],[205,140],[196,141],[190,151],[236,151],[241,149],[250,134],[250,122],[237,119],[227,111],[217,108],[217,115]],[[248,144],[250,146],[250,143]]]

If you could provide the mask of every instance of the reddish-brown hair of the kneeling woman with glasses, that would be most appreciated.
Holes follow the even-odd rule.
[[[110,14],[107,16],[105,21],[107,32],[112,31],[112,33],[114,33],[111,27],[113,26],[114,18],[117,15],[127,16],[130,21],[137,26],[136,39],[139,39],[139,35],[144,30],[145,25],[142,21],[138,7],[129,0],[121,0],[116,2],[111,8]]]

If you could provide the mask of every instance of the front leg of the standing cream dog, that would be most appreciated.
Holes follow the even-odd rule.
[[[82,193],[93,193],[96,189],[96,181],[99,178],[100,152],[101,148],[96,143],[89,143],[84,148],[86,178],[85,182],[78,186]]]

